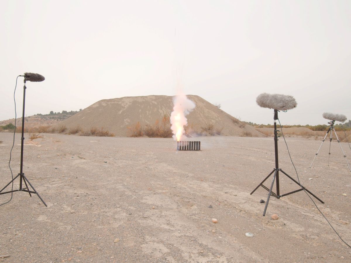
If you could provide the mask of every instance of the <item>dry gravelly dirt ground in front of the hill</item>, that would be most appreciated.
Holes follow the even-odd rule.
[[[0,261],[351,262],[351,249],[304,192],[271,197],[262,216],[267,191],[250,192],[274,167],[272,137],[200,137],[202,151],[177,152],[172,139],[42,135],[25,140],[24,173],[48,207],[25,192],[0,207],[0,255],[11,255]],[[302,184],[351,243],[351,172],[338,143],[329,167],[325,142],[309,168],[321,141],[286,139]],[[0,140],[2,188],[11,180],[12,134]],[[278,143],[280,168],[296,178],[282,137]],[[15,175],[19,144],[16,134]],[[280,186],[298,189],[283,175]]]

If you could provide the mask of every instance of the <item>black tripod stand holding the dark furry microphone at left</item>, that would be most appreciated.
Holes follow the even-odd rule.
[[[35,190],[35,188],[32,186],[32,184],[28,181],[27,177],[24,175],[23,173],[23,145],[24,145],[24,106],[25,106],[25,98],[26,98],[26,79],[24,80],[24,86],[23,86],[23,112],[22,112],[22,137],[21,137],[21,168],[20,168],[20,173],[14,177],[8,184],[6,184],[6,186],[4,188],[2,188],[0,190],[0,195],[3,194],[8,194],[8,193],[13,193],[13,192],[17,192],[17,191],[24,191],[29,193],[29,196],[32,196],[32,194],[36,194],[38,195],[38,197],[40,198],[41,202],[43,202],[45,204],[45,206],[47,207],[46,203],[44,202],[44,200],[42,200],[41,196],[39,195],[39,193]],[[20,187],[17,190],[11,190],[11,191],[7,191],[7,192],[2,192],[6,187],[8,187],[14,180],[16,180],[17,177],[20,177]],[[22,182],[25,183],[26,187],[22,188]],[[28,185],[31,186],[32,190],[29,190]]]

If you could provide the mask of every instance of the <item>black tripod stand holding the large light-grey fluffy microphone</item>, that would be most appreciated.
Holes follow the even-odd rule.
[[[324,202],[322,200],[320,200],[317,196],[315,196],[313,193],[311,193],[309,190],[307,190],[304,186],[302,186],[302,184],[300,184],[298,181],[296,181],[294,178],[292,178],[290,175],[288,175],[287,173],[285,173],[282,169],[279,168],[279,163],[278,163],[278,131],[277,130],[277,122],[276,120],[278,120],[278,110],[274,110],[274,151],[275,151],[275,159],[276,159],[276,168],[273,169],[273,171],[271,171],[271,173],[266,177],[264,178],[264,180],[262,182],[260,182],[260,184],[250,193],[250,195],[252,195],[254,193],[254,191],[256,191],[260,186],[263,187],[264,189],[266,189],[267,191],[269,191],[269,194],[267,196],[267,201],[266,201],[266,205],[265,205],[265,208],[264,208],[264,211],[263,211],[263,216],[266,215],[266,210],[267,210],[267,207],[268,207],[268,202],[269,202],[269,198],[271,196],[274,196],[276,198],[280,198],[280,197],[283,197],[283,196],[286,196],[286,195],[291,195],[293,193],[297,193],[299,191],[302,191],[302,190],[305,190],[307,191],[308,193],[310,193],[314,198],[316,198],[319,202],[323,203]],[[280,191],[279,191],[279,171],[282,172],[283,174],[285,174],[288,178],[290,178],[293,182],[295,182],[296,184],[298,184],[301,188],[298,189],[298,190],[294,190],[292,192],[289,192],[289,193],[286,193],[286,194],[283,194],[281,195],[280,194]],[[274,174],[273,174],[274,173]],[[271,187],[268,188],[266,186],[263,185],[263,183],[273,174],[273,181],[272,181],[272,184],[271,184]],[[276,186],[277,186],[277,193],[274,193],[272,191],[273,189],[273,185],[274,185],[274,181],[276,181]]]

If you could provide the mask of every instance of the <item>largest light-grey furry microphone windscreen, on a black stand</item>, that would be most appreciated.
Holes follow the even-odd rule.
[[[262,93],[257,96],[256,102],[262,108],[276,110],[288,110],[297,106],[297,102],[293,96],[283,94]]]

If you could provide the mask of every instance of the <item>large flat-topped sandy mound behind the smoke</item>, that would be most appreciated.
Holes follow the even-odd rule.
[[[200,133],[212,124],[221,130],[221,135],[263,136],[252,126],[244,124],[196,95],[187,95],[195,102],[196,108],[188,118],[188,126],[193,133]],[[81,128],[104,127],[116,136],[128,136],[128,126],[140,122],[141,125],[161,121],[164,115],[170,116],[173,109],[173,97],[150,95],[139,97],[122,97],[100,100],[77,114],[60,122],[67,128],[79,125]]]

